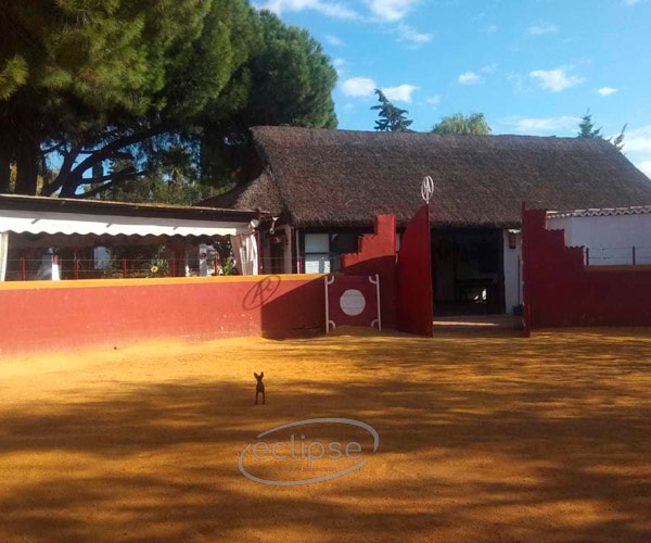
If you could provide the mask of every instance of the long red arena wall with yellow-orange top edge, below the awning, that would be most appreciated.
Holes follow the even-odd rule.
[[[324,329],[323,276],[0,283],[0,355]]]

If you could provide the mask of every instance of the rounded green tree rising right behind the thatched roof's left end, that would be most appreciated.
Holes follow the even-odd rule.
[[[258,15],[259,42],[226,91],[203,115],[201,176],[222,184],[242,164],[248,128],[336,128],[336,72],[321,45],[269,11]]]

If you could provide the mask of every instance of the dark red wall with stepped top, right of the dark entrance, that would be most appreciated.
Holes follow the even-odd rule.
[[[523,209],[522,252],[525,330],[651,326],[651,266],[585,266],[545,210]]]

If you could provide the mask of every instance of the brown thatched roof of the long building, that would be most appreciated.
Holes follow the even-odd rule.
[[[603,140],[435,136],[255,127],[261,173],[204,202],[284,214],[298,227],[368,227],[379,213],[406,224],[434,180],[435,225],[511,226],[529,207],[651,204],[651,184]]]

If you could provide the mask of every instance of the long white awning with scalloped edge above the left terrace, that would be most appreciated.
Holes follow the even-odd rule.
[[[0,210],[0,232],[95,236],[234,236],[247,222]]]

